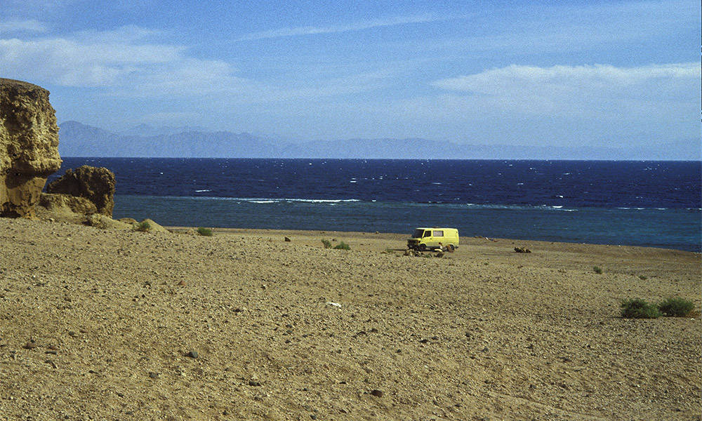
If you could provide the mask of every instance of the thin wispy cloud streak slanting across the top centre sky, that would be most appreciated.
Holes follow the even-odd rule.
[[[443,16],[439,17],[437,15],[413,15],[404,17],[395,17],[388,19],[375,19],[366,20],[364,22],[355,22],[347,25],[333,25],[326,27],[291,27],[291,28],[280,28],[271,29],[269,31],[253,32],[251,34],[246,34],[240,36],[236,41],[251,41],[254,39],[268,39],[268,38],[280,38],[283,36],[300,36],[300,35],[317,35],[317,34],[334,34],[338,32],[353,32],[362,31],[364,29],[373,29],[378,27],[389,27],[395,25],[406,25],[409,23],[425,23],[425,22],[438,22],[441,20],[449,20],[451,17]]]

